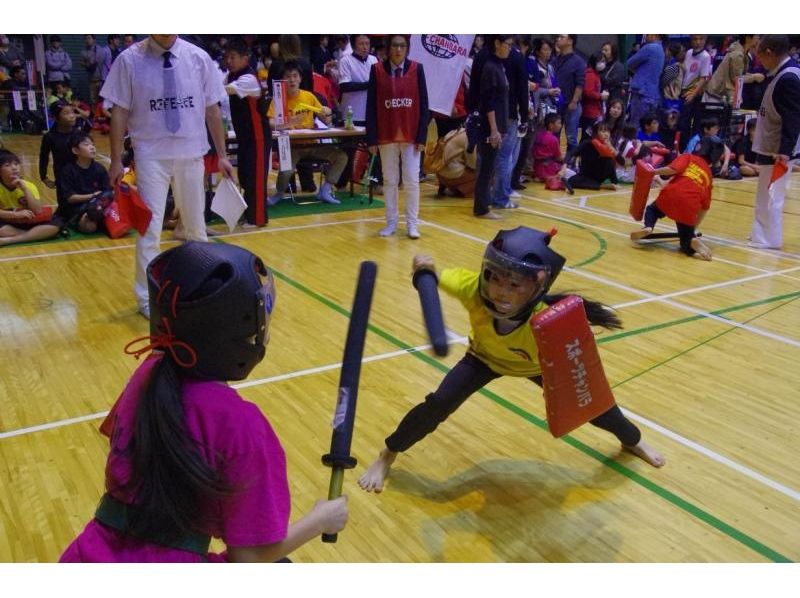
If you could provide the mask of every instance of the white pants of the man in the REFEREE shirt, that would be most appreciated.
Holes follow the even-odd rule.
[[[161,251],[161,228],[167,205],[167,191],[172,185],[175,207],[190,241],[207,241],[203,158],[148,160],[136,157],[136,184],[139,195],[150,208],[153,218],[147,232],[136,240],[136,282],[133,292],[139,307],[148,304],[147,265]]]

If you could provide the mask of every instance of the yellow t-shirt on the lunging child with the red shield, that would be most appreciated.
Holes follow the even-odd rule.
[[[494,318],[486,311],[478,291],[479,276],[464,268],[447,268],[439,276],[441,289],[461,301],[469,314],[469,352],[503,376],[540,375],[539,349],[529,323],[508,334],[498,334]],[[533,314],[546,308],[547,305],[539,303]]]

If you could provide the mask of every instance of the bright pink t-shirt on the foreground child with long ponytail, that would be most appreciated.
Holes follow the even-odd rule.
[[[104,427],[113,425],[106,462],[106,487],[127,482],[132,469],[125,448],[131,442],[139,397],[157,358],[150,357],[134,372]],[[189,434],[199,442],[206,461],[222,472],[236,492],[207,505],[208,535],[228,546],[257,546],[286,537],[291,500],[286,456],[261,411],[222,382],[187,379],[183,383]],[[119,490],[122,502],[132,497]],[[61,556],[61,562],[199,562],[201,555],[166,548],[124,536],[92,520]],[[208,560],[224,562],[224,555]]]

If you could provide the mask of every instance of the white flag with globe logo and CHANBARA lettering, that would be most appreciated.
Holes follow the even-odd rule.
[[[467,66],[474,34],[425,33],[411,36],[408,57],[425,68],[428,108],[450,116]]]

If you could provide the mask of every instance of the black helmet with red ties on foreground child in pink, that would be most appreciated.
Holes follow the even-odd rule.
[[[242,380],[264,359],[275,304],[272,273],[253,253],[191,241],[147,267],[153,346],[184,373]]]

